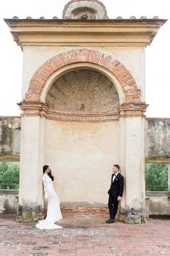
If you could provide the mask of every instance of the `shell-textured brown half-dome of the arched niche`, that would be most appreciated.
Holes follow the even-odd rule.
[[[56,79],[45,98],[50,110],[71,113],[113,111],[120,106],[117,90],[102,72],[71,69]]]

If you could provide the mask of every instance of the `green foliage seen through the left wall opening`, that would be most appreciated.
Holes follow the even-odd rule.
[[[19,163],[0,163],[0,189],[18,189]]]

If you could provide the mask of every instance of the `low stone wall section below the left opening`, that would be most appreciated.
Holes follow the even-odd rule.
[[[0,213],[17,213],[18,190],[0,190]]]

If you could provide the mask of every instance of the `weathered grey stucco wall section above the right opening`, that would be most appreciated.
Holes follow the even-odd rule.
[[[170,162],[170,119],[146,119],[146,161]]]

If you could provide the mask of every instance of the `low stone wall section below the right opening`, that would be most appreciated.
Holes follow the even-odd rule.
[[[170,216],[170,193],[151,192],[149,197],[149,216]]]

